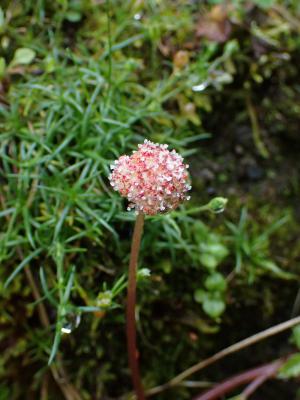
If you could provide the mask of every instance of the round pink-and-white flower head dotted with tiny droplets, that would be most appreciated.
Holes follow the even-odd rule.
[[[131,156],[121,156],[111,165],[114,190],[130,201],[128,210],[155,215],[174,210],[189,200],[188,165],[168,145],[145,140]]]

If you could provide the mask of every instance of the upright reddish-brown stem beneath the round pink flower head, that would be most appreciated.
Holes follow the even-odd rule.
[[[126,332],[128,361],[131,369],[132,384],[138,400],[144,400],[145,394],[140,376],[138,362],[138,350],[136,345],[136,323],[135,323],[135,304],[136,304],[136,273],[137,262],[141,244],[141,237],[144,226],[144,214],[137,216],[131,243],[128,290],[127,290],[127,310],[126,310]]]

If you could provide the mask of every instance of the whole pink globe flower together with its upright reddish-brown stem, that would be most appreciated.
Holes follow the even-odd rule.
[[[140,377],[136,345],[136,277],[137,262],[144,215],[157,215],[175,210],[183,201],[189,200],[191,190],[189,166],[175,150],[168,150],[167,144],[152,143],[145,139],[131,156],[122,155],[110,166],[111,186],[129,200],[128,211],[134,209],[138,215],[131,245],[126,331],[129,367],[137,400],[144,400],[145,394]]]

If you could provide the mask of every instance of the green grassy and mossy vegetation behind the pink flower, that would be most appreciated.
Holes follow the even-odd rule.
[[[296,0],[1,2],[1,400],[63,398],[49,358],[82,399],[130,392],[134,215],[107,176],[144,138],[180,151],[193,182],[188,205],[146,220],[145,386],[299,313],[299,14]],[[215,195],[225,213],[200,213]],[[291,346],[280,335],[155,398]],[[259,398],[296,390],[268,382]]]

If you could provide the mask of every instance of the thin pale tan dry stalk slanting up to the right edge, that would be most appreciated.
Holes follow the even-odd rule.
[[[227,357],[229,354],[240,351],[248,346],[252,346],[253,344],[261,340],[264,340],[270,336],[276,335],[280,332],[290,329],[298,324],[300,324],[300,317],[292,318],[289,319],[288,321],[282,322],[281,324],[272,326],[271,328],[268,328],[262,332],[256,333],[255,335],[249,336],[248,338],[241,340],[240,342],[234,343],[233,345],[226,347],[225,349],[219,351],[218,353],[215,353],[213,356],[208,357],[205,360],[202,360],[199,363],[191,366],[190,368],[186,369],[185,371],[181,372],[180,374],[172,378],[170,381],[147,390],[146,395],[152,396],[154,394],[167,390],[171,387],[177,386],[188,376],[208,367],[209,365],[215,363],[216,361],[221,360],[224,357]]]

